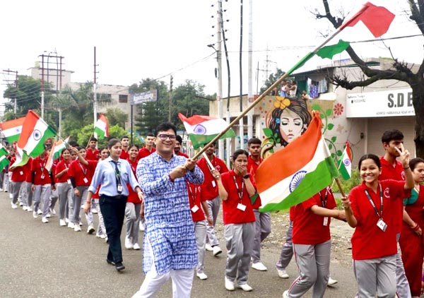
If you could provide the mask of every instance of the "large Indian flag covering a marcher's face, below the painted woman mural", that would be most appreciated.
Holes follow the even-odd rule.
[[[305,133],[259,165],[255,179],[261,212],[290,208],[329,186],[338,170],[322,136],[318,113]]]

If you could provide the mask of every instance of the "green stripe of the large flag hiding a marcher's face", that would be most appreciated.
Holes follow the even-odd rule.
[[[331,157],[326,157],[325,160],[319,162],[317,169],[314,172],[307,173],[298,187],[286,198],[283,198],[280,203],[269,203],[259,210],[261,212],[285,210],[293,205],[302,203],[326,186],[329,186],[336,177],[338,177],[338,170],[334,160]]]

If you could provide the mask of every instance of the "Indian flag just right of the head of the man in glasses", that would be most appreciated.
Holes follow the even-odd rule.
[[[218,136],[221,131],[224,131],[228,124],[224,119],[214,118],[209,116],[194,115],[185,117],[183,114],[178,114],[184,127],[189,135],[190,141],[193,143],[193,148],[198,149]],[[220,138],[234,138],[235,132],[229,129]]]

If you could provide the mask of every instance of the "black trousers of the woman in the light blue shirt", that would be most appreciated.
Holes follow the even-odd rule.
[[[109,251],[107,259],[122,262],[121,231],[124,224],[126,196],[100,196],[100,211],[105,222]]]

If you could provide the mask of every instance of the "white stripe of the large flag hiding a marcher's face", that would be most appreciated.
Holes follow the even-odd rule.
[[[319,140],[317,145],[317,150],[315,151],[314,157],[312,160],[308,162],[305,167],[299,169],[299,171],[306,171],[307,173],[314,172],[317,169],[317,166],[320,162],[324,160],[324,158],[329,157],[331,155],[328,146],[326,145],[324,138]],[[324,158],[323,158],[324,157]],[[296,173],[295,173],[296,174]],[[293,176],[285,177],[285,179],[279,181],[278,183],[271,186],[269,189],[259,193],[261,196],[261,207],[269,203],[280,203],[284,198],[287,198],[290,195],[290,182],[293,179]]]

